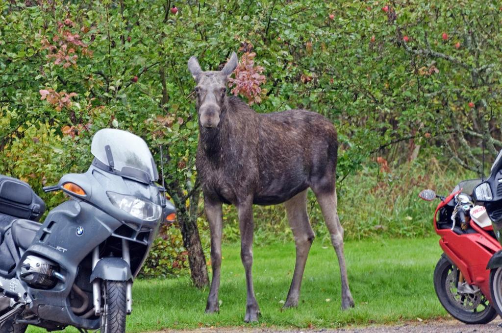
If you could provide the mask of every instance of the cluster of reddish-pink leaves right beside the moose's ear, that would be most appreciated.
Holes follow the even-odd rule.
[[[261,85],[265,83],[265,75],[262,75],[264,68],[255,66],[254,58],[256,53],[246,52],[240,57],[239,64],[234,71],[235,78],[228,81],[230,87],[233,87],[232,94],[245,96],[250,105],[262,101],[263,89]]]

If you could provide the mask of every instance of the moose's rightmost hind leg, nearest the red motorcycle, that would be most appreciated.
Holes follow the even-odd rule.
[[[352,294],[350,293],[348,286],[347,268],[345,264],[345,256],[343,254],[343,228],[340,224],[340,219],[338,218],[336,210],[336,190],[333,190],[332,192],[316,192],[314,190],[314,193],[317,201],[319,202],[319,206],[321,206],[322,215],[324,216],[328,231],[331,234],[331,243],[335,248],[336,256],[338,257],[338,264],[340,265],[342,309],[354,307],[354,300],[352,299]]]

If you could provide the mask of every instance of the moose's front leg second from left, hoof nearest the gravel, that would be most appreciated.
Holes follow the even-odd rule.
[[[240,259],[244,266],[246,275],[246,315],[245,322],[258,321],[260,315],[260,308],[255,297],[255,289],[253,287],[253,201],[248,200],[237,207],[239,215],[239,229],[240,229]]]

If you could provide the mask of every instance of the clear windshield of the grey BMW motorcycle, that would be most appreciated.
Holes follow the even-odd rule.
[[[120,129],[104,128],[92,138],[91,153],[115,172],[147,183],[157,181],[157,166],[147,143]]]

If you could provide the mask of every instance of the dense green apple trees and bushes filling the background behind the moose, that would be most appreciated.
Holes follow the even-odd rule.
[[[232,51],[247,55],[234,92],[256,102],[257,112],[308,108],[335,123],[348,238],[423,233],[412,197],[393,190],[399,178],[402,190],[414,189],[410,170],[418,167],[412,162],[378,176],[376,157],[403,165],[439,153],[440,163],[453,158],[479,174],[480,147],[487,156],[502,147],[498,2],[412,0],[383,11],[377,1],[195,0],[177,4],[175,15],[170,4],[0,2],[0,173],[27,180],[40,193],[62,174],[87,168],[98,129],[127,129],[148,141],[156,160],[164,147],[166,187],[180,221],[194,223],[197,115],[186,63],[197,55],[204,70],[217,69]],[[242,80],[253,75],[245,71],[258,75],[247,90]],[[344,192],[349,185],[371,195]],[[345,206],[347,197],[368,207]],[[51,208],[63,198],[44,199]],[[385,216],[375,218],[368,200],[388,208]],[[412,218],[406,231],[397,214]],[[257,215],[258,240],[267,238],[262,231],[289,237],[281,208],[259,208]],[[226,221],[225,235],[233,240],[235,215]],[[175,246],[166,242],[156,247]],[[162,254],[151,266],[176,258]]]

